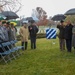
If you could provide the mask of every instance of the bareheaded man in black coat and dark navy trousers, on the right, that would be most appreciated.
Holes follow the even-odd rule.
[[[70,21],[68,21],[67,25],[65,26],[66,48],[68,52],[71,52],[72,48],[72,28],[73,25],[70,23]]]

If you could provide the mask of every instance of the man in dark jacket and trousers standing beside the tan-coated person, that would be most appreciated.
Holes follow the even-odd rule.
[[[38,28],[34,20],[31,20],[30,23],[31,25],[28,27],[28,29],[30,33],[31,49],[36,49],[36,34],[38,32]]]

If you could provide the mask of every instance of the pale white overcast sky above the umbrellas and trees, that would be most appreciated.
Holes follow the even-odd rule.
[[[21,0],[22,9],[17,13],[19,16],[31,16],[32,9],[42,7],[48,17],[56,14],[64,14],[67,10],[75,8],[75,0]]]

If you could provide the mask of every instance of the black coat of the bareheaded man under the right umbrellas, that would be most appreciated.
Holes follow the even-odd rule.
[[[72,24],[65,26],[65,39],[72,39],[72,28]]]

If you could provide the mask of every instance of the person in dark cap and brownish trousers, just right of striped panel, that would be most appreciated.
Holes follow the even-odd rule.
[[[64,21],[61,20],[60,21],[60,25],[57,25],[57,28],[59,29],[59,45],[60,45],[60,50],[65,50],[65,38],[64,38],[64,34],[65,34],[65,26],[64,26]]]

